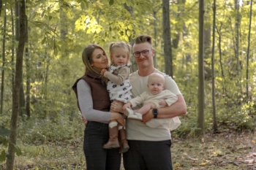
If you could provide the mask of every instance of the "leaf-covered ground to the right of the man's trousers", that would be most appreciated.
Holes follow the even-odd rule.
[[[173,138],[174,169],[256,169],[256,134],[206,134],[202,139]]]

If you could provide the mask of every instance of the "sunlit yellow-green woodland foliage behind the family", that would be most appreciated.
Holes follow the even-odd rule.
[[[5,63],[1,66],[1,74],[4,71],[4,80],[1,81],[1,85],[4,85],[4,93],[0,126],[10,129],[12,70],[15,68],[12,62],[14,49],[12,45],[15,48],[18,47],[18,41],[13,42],[17,34],[18,23],[15,21],[18,16],[12,12],[15,11],[13,2],[1,2],[0,47],[5,50],[1,53],[0,60],[3,63],[5,56]],[[125,2],[127,7],[124,6]],[[26,1],[26,3],[28,41],[25,46],[27,53],[24,55],[26,62],[23,63],[23,94],[25,94],[25,104],[29,101],[30,106],[29,110],[23,109],[24,113],[18,119],[19,142],[38,140],[38,138],[64,140],[83,135],[82,131],[72,126],[80,123],[80,115],[71,87],[75,80],[84,74],[81,51],[89,43],[102,45],[108,53],[110,42],[129,42],[139,34],[149,34],[154,37],[157,69],[165,72],[163,37],[166,33],[162,31],[162,0],[37,0]],[[255,117],[256,114],[256,42],[253,36],[250,41],[248,37],[249,34],[255,35],[256,19],[253,11],[256,11],[256,5],[252,4],[250,9],[249,1],[236,1],[236,4],[235,1],[217,1],[216,3],[216,35],[215,39],[212,39],[213,1],[204,1],[204,36],[208,37],[204,40],[207,42],[204,45],[208,46],[207,50],[204,49],[203,58],[204,130],[211,131],[213,126],[214,108],[211,93],[213,41],[215,42],[214,96],[218,130],[222,131],[222,128],[233,128],[239,131],[252,129],[255,125],[253,116]],[[175,132],[180,136],[195,134],[197,129],[200,33],[198,5],[198,1],[194,0],[170,1],[173,79],[176,80],[184,95],[188,110],[188,114],[181,117],[182,125]],[[252,24],[249,31],[251,11]],[[5,16],[6,28],[4,28]],[[13,29],[15,31],[12,31]],[[15,34],[12,34],[13,32]],[[4,42],[5,48],[2,48]],[[247,65],[246,58],[248,58]],[[247,96],[246,89],[248,89]],[[27,98],[27,94],[30,98]],[[44,123],[48,123],[46,128],[35,128],[45,125]],[[49,127],[54,128],[54,125],[63,124],[69,128],[63,128],[65,131],[61,131],[60,128],[59,133],[58,131],[49,133]],[[8,139],[7,135],[4,137]],[[4,149],[0,149],[0,152],[2,150]]]

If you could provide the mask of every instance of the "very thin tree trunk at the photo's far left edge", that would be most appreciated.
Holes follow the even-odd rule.
[[[7,28],[7,12],[4,9],[4,35],[3,35],[3,48],[2,48],[2,55],[3,55],[3,63],[2,67],[4,68],[5,65],[5,34],[6,34],[6,28]],[[0,115],[3,115],[3,107],[4,107],[4,69],[1,71],[1,109],[0,109]]]

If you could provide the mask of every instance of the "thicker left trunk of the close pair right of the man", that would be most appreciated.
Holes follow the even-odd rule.
[[[204,0],[199,1],[199,54],[198,54],[198,116],[196,131],[197,136],[204,135],[204,69],[203,69],[203,30],[204,30]]]

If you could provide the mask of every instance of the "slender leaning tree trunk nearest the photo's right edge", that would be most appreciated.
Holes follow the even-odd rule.
[[[251,45],[251,26],[252,26],[252,0],[250,4],[250,13],[249,13],[249,33],[248,33],[248,48],[246,55],[246,98],[249,101],[249,47]]]

